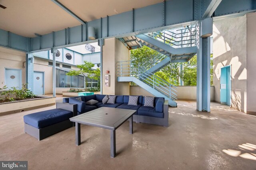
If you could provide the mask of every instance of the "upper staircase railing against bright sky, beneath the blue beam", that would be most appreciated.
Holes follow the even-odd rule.
[[[187,28],[176,28],[171,30],[163,30],[160,32],[150,32],[145,35],[150,36],[174,48],[196,46],[196,26],[194,25],[187,26]]]

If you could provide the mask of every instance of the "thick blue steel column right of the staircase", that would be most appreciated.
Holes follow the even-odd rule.
[[[197,33],[196,109],[210,112],[210,36],[212,18],[200,20]]]

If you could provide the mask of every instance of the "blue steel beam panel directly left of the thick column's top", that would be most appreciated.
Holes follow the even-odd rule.
[[[193,20],[193,0],[166,1],[166,25],[189,22]]]

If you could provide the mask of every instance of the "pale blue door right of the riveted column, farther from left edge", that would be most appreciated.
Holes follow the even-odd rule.
[[[44,95],[44,72],[34,71],[34,91],[35,95]]]

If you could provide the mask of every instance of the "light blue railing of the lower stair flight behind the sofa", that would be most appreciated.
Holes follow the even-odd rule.
[[[119,61],[117,66],[118,77],[135,77],[169,99],[173,101],[177,100],[177,91],[174,89],[177,87],[168,83],[164,79],[161,79],[139,65],[132,63],[132,61]]]

